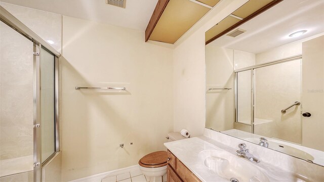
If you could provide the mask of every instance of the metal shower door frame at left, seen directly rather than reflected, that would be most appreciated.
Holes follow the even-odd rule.
[[[16,30],[18,33],[33,42],[33,180],[42,181],[42,166],[46,165],[59,151],[59,57],[61,54],[51,47],[45,40],[30,30],[26,25],[20,22],[16,17],[10,14],[5,8],[0,6],[0,21]],[[54,78],[55,78],[55,151],[42,163],[42,125],[41,125],[41,48],[54,55]]]

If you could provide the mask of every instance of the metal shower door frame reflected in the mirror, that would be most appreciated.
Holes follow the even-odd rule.
[[[292,56],[292,57],[288,57],[288,58],[284,58],[284,59],[279,59],[279,60],[275,60],[275,61],[271,61],[271,62],[267,62],[267,63],[262,63],[262,64],[234,70],[234,112],[235,112],[234,122],[251,126],[251,133],[254,133],[255,69],[266,67],[266,66],[271,66],[271,65],[276,65],[276,64],[280,64],[280,63],[285,63],[285,62],[289,62],[289,61],[295,61],[295,60],[299,60],[299,59],[303,59],[303,56],[296,55],[296,56]],[[238,121],[238,73],[242,72],[242,71],[248,71],[248,70],[251,70],[251,122],[250,122],[250,124]]]

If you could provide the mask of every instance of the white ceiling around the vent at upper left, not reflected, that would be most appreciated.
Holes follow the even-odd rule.
[[[65,16],[145,30],[157,0],[126,0],[126,9],[105,0],[0,0],[5,3]]]

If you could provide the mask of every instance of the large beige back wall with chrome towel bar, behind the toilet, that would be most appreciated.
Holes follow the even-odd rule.
[[[142,31],[63,16],[64,181],[136,165],[164,150],[165,136],[173,131],[172,54],[144,42]]]

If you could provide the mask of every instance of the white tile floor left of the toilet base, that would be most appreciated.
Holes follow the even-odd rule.
[[[101,182],[147,182],[146,177],[140,169],[121,174],[111,174],[101,180]]]

